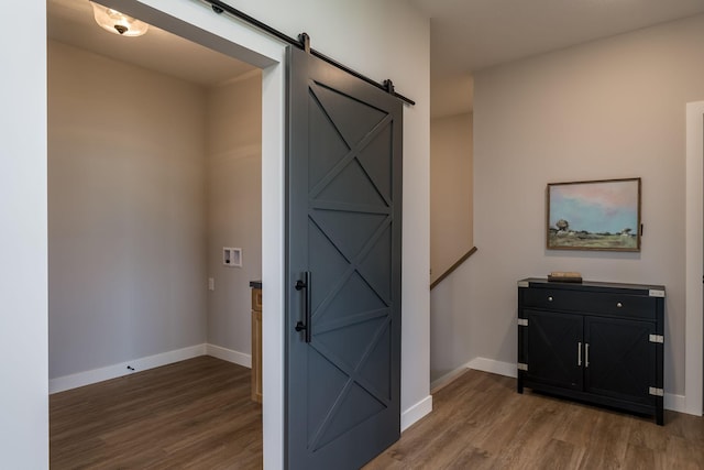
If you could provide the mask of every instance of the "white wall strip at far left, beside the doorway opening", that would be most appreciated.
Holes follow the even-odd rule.
[[[45,3],[0,28],[2,466],[48,466]]]

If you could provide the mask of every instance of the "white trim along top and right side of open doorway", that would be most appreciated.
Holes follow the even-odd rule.
[[[102,4],[262,68],[262,283],[267,311],[284,311],[286,45],[204,3],[102,0]],[[262,319],[264,469],[284,468],[284,317]]]

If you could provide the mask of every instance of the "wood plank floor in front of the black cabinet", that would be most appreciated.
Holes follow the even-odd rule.
[[[376,469],[704,469],[704,418],[666,425],[466,371],[433,394],[433,412],[372,460]]]

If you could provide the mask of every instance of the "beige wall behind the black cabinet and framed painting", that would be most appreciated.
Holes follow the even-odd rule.
[[[688,101],[704,97],[704,15],[479,72],[474,242],[455,273],[466,360],[516,361],[516,281],[550,271],[667,287],[664,382],[684,392]],[[640,176],[640,253],[547,251],[547,183]],[[433,306],[435,307],[435,306]],[[444,308],[438,305],[437,308]]]

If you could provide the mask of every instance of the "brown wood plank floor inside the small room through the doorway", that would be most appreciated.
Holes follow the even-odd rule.
[[[257,469],[250,369],[208,356],[50,396],[52,469]]]

